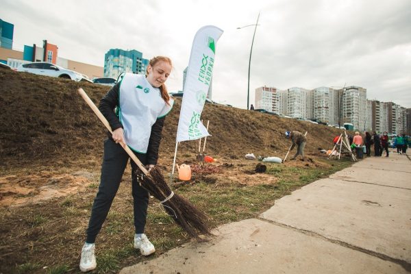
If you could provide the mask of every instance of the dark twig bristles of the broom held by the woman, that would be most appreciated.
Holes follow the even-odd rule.
[[[149,176],[143,176],[140,184],[159,201],[164,201],[171,195],[171,189],[157,166],[150,170]],[[163,206],[175,223],[182,227],[190,237],[200,240],[199,233],[206,236],[212,235],[208,228],[206,214],[195,208],[184,197],[174,194],[171,199],[163,203]]]

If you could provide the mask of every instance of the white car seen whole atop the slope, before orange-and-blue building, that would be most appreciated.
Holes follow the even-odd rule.
[[[88,77],[85,77],[85,75],[82,75],[82,73],[77,73],[69,69],[64,69],[61,66],[58,66],[56,64],[51,64],[48,62],[34,62],[34,63],[21,64],[20,66],[17,67],[16,71],[23,71],[26,73],[34,73],[38,75],[72,79],[77,82],[79,81],[91,82],[90,79],[88,79]]]

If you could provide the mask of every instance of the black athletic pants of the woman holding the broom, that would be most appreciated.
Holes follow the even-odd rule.
[[[136,153],[136,156],[142,164],[146,164],[145,154]],[[129,155],[127,155],[121,145],[116,144],[111,139],[104,141],[104,157],[101,166],[99,191],[92,205],[90,221],[86,231],[86,242],[95,242],[96,236],[100,232],[101,226],[110,210],[114,196],[116,196],[116,192],[119,190],[121,177],[123,177],[128,159]],[[132,174],[134,174],[138,166],[134,161],[131,160],[130,162],[132,164]],[[144,233],[147,207],[149,205],[149,192],[138,184],[135,175],[132,175],[132,195],[134,198],[134,227],[136,228],[136,233]]]

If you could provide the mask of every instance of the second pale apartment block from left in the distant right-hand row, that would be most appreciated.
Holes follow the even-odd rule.
[[[305,88],[288,88],[287,115],[299,119],[311,119],[312,92]]]

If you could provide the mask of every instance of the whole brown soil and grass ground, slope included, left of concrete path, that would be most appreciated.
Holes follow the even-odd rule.
[[[0,85],[0,273],[77,272],[106,138],[77,88],[95,103],[109,88],[6,69],[0,69]],[[171,171],[180,104],[176,99],[163,129],[158,164],[165,174]],[[171,185],[207,212],[212,227],[256,216],[293,189],[351,164],[319,152],[332,149],[340,134],[332,127],[214,104],[205,105],[202,119],[210,120],[206,154],[216,162],[197,161],[198,142],[181,143],[177,163],[192,166],[192,180],[174,178]],[[295,129],[308,132],[306,158],[264,163],[267,171],[256,173],[258,162],[245,154],[284,158],[290,146],[284,132]],[[131,245],[130,177],[127,168],[99,235],[97,273],[145,260]],[[147,234],[157,253],[188,240],[153,200]]]

